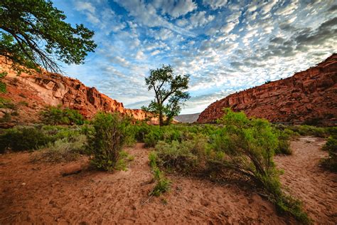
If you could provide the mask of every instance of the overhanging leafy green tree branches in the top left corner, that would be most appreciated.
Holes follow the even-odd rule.
[[[57,61],[83,63],[87,52],[96,48],[94,32],[82,24],[73,27],[65,19],[49,0],[1,0],[0,56],[18,73],[23,70],[20,66],[59,73]],[[6,75],[0,73],[0,79]]]

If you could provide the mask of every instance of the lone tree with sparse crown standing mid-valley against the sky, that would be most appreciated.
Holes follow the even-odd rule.
[[[184,92],[188,89],[189,80],[190,75],[174,75],[171,66],[163,65],[156,70],[150,70],[145,82],[149,90],[154,90],[155,98],[148,107],[143,106],[142,109],[159,116],[160,126],[168,125],[173,117],[181,112],[181,104],[190,98],[190,95]]]

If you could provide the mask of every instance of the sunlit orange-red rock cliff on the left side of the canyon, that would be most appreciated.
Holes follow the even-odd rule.
[[[0,63],[0,68],[8,72],[4,79],[7,93],[1,93],[0,97],[18,105],[19,114],[26,120],[21,122],[38,120],[39,112],[47,105],[63,105],[78,110],[86,118],[93,117],[98,111],[120,112],[136,120],[146,118],[146,112],[124,108],[123,103],[107,97],[96,88],[85,86],[80,80],[55,73],[16,75],[4,62]]]

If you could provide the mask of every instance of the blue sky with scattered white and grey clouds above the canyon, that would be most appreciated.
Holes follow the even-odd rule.
[[[287,78],[337,52],[337,1],[54,0],[66,21],[95,31],[95,53],[65,75],[124,104],[154,99],[144,78],[170,64],[190,74],[181,114]]]

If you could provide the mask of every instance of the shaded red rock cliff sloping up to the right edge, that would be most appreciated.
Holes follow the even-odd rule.
[[[289,78],[217,100],[201,112],[198,122],[214,122],[223,115],[223,108],[244,111],[249,117],[270,122],[336,125],[337,54]]]

